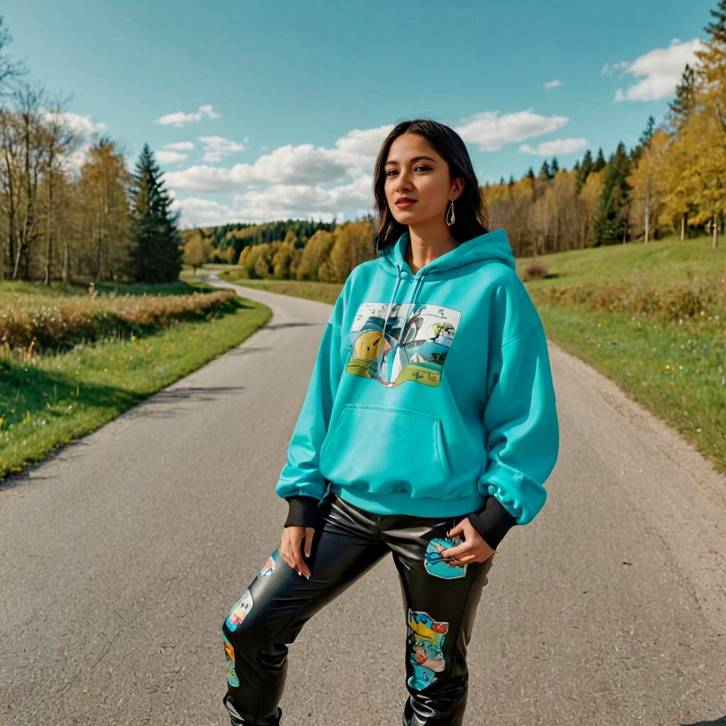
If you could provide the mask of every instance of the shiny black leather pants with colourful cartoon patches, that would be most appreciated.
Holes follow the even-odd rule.
[[[446,531],[464,516],[379,515],[327,494],[305,558],[311,578],[298,575],[275,549],[224,620],[224,706],[232,726],[280,724],[287,646],[311,616],[388,552],[399,571],[407,625],[403,726],[461,726],[467,645],[497,556],[458,567],[441,559],[442,549],[460,544]],[[314,716],[325,723],[324,714]]]

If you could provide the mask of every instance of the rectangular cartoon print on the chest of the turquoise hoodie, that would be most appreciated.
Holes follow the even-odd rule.
[[[384,386],[407,380],[438,386],[461,312],[433,303],[395,303],[383,330],[387,311],[387,303],[361,304],[348,334],[346,372],[375,378]]]

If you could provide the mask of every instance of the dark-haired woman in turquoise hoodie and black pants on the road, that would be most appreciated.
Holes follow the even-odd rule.
[[[460,726],[496,548],[542,508],[557,460],[542,320],[504,229],[486,229],[460,136],[399,123],[374,194],[378,254],[322,334],[276,486],[280,545],[222,625],[232,726],[280,724],[287,646],[389,552],[407,613],[403,725]]]

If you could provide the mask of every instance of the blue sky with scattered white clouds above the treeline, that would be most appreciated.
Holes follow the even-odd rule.
[[[372,211],[405,118],[446,123],[479,181],[660,122],[716,0],[4,0],[8,51],[133,168],[150,144],[182,227]]]

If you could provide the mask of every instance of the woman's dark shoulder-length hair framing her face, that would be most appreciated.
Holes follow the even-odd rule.
[[[396,124],[391,133],[386,136],[378,152],[378,158],[375,160],[373,198],[378,221],[370,242],[372,252],[380,253],[384,248],[393,245],[408,229],[407,224],[401,224],[393,218],[384,189],[388,150],[391,148],[393,139],[407,131],[425,137],[431,147],[449,164],[449,174],[452,179],[456,179],[457,176],[462,176],[464,179],[464,190],[454,203],[455,221],[449,227],[454,240],[466,242],[473,237],[489,232],[479,182],[461,136],[454,129],[438,121],[433,121],[431,118],[415,118]]]

